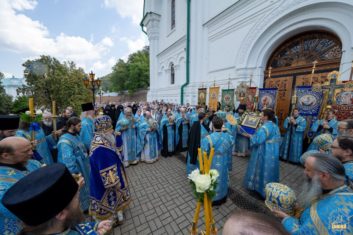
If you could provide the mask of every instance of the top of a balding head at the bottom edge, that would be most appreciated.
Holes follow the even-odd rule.
[[[239,211],[231,215],[223,227],[222,235],[289,235],[283,225],[268,215]]]

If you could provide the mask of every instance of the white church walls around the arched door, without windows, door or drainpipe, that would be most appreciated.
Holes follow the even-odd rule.
[[[150,42],[150,91],[147,100],[179,103],[186,82],[187,1],[145,0],[142,24]],[[210,87],[216,77],[220,90],[250,79],[261,85],[274,49],[287,38],[309,30],[335,33],[342,41],[340,72],[352,66],[353,1],[318,0],[193,0],[190,1],[190,79],[183,103],[197,103],[197,88]],[[175,84],[170,84],[174,64]],[[340,80],[348,80],[344,73]],[[228,86],[226,87],[228,88]],[[220,91],[221,92],[221,91]],[[207,95],[208,103],[208,95]],[[237,106],[237,104],[236,104]]]

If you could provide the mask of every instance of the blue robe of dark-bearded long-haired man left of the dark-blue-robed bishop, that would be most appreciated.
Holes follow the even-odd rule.
[[[83,211],[89,208],[90,166],[87,150],[79,135],[65,133],[58,142],[58,162],[64,163],[71,174],[82,174],[85,184],[80,190],[78,199]]]

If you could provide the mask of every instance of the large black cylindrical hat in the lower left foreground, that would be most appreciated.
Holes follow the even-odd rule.
[[[20,220],[36,226],[54,218],[75,197],[78,184],[63,163],[53,163],[26,175],[2,197],[2,204]]]

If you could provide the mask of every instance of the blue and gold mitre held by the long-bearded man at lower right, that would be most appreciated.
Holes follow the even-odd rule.
[[[268,183],[265,187],[268,208],[293,215],[293,206],[297,202],[297,197],[291,188],[280,183]]]

